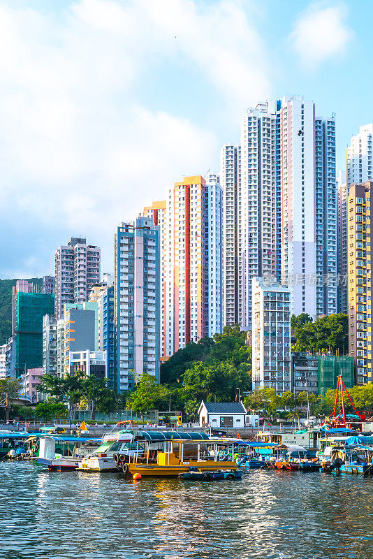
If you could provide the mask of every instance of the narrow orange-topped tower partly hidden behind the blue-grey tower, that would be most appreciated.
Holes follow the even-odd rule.
[[[165,324],[165,305],[166,305],[166,293],[167,293],[167,282],[166,282],[166,269],[168,266],[167,262],[167,247],[170,239],[165,235],[167,226],[167,203],[166,200],[153,202],[151,206],[144,208],[144,217],[149,217],[152,219],[153,225],[159,227],[159,247],[160,247],[160,266],[159,266],[159,286],[161,289],[161,304],[159,305],[159,321],[161,324],[161,337],[160,337],[160,351],[161,351],[161,361],[164,361],[166,357],[170,355],[167,354],[166,347],[166,324]]]

